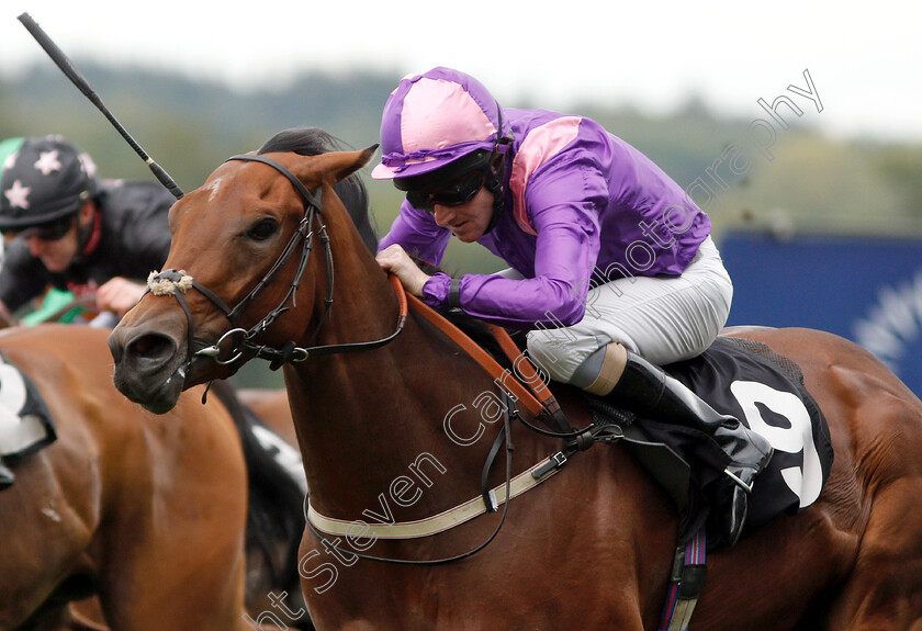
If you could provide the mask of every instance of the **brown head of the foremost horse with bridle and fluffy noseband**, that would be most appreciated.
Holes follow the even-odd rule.
[[[165,269],[109,339],[116,387],[162,414],[254,357],[292,359],[331,301],[328,226],[360,238],[333,187],[375,148],[234,156],[179,200]]]

